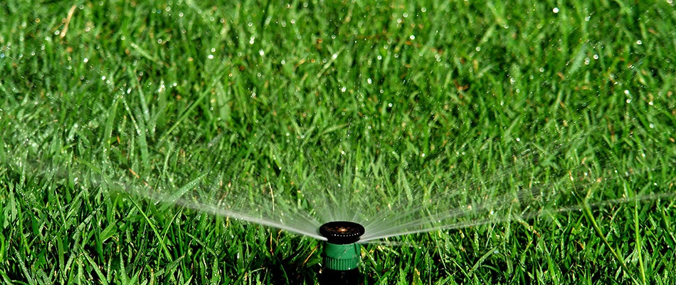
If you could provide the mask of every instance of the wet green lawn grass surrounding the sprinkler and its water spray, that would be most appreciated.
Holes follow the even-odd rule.
[[[0,4],[0,280],[314,284],[320,242],[130,192],[311,210],[354,167],[366,200],[557,193],[368,244],[368,284],[676,282],[669,1],[272,2]]]

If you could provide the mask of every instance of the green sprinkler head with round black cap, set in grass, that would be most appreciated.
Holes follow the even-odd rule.
[[[356,222],[327,222],[319,227],[319,234],[328,239],[324,245],[324,263],[328,269],[346,271],[356,269],[361,257],[359,237],[364,227]]]

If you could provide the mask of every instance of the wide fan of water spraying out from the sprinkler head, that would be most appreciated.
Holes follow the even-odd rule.
[[[171,179],[133,187],[139,184],[133,179],[109,177],[107,181],[113,188],[155,202],[322,240],[326,238],[318,232],[320,225],[357,222],[365,228],[360,242],[577,210],[582,199],[601,206],[672,196],[650,189],[657,185],[651,182],[651,172],[659,165],[632,157],[636,162],[620,169],[608,157],[594,157],[596,146],[589,145],[587,138],[576,134],[544,146],[518,143],[487,162],[472,157],[493,151],[490,142],[479,150],[458,152],[463,160],[366,147],[304,150],[273,155],[275,166],[268,175],[247,171],[237,157],[215,155],[213,165],[197,167],[204,174],[181,187]],[[448,161],[453,161],[448,170],[430,167]],[[618,192],[628,181],[648,185],[640,193],[626,188]],[[594,197],[594,192],[608,188],[617,197]]]

